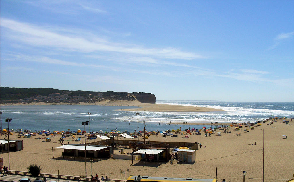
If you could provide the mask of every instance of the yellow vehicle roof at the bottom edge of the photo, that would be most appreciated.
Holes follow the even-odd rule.
[[[136,178],[136,179],[135,179]],[[142,176],[141,180],[137,179],[138,176],[130,176],[127,182],[217,182],[217,179],[197,179],[197,178],[166,178],[166,177],[152,177]],[[140,177],[139,177],[140,179]]]

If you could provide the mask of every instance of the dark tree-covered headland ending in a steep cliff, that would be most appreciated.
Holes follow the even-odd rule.
[[[0,103],[68,103],[95,104],[103,101],[139,101],[141,103],[155,103],[156,97],[152,93],[126,93],[115,91],[68,91],[51,88],[11,88],[0,87]]]

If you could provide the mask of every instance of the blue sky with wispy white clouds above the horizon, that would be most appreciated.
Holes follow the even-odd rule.
[[[1,86],[294,102],[294,1],[0,2]]]

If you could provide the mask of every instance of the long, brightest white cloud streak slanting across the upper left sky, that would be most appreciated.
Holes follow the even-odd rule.
[[[80,37],[79,35],[60,34],[48,31],[40,26],[21,23],[18,21],[1,18],[1,26],[6,28],[6,36],[22,43],[62,49],[63,51],[77,51],[81,53],[116,52],[120,54],[148,55],[163,59],[199,59],[204,56],[180,49],[168,48],[145,48],[140,45],[117,43],[106,39],[93,39]]]

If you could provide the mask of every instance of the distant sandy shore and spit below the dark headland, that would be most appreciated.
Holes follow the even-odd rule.
[[[139,101],[101,101],[95,103],[11,103],[1,106],[51,106],[51,105],[79,105],[79,106],[137,106],[138,108],[124,108],[122,111],[146,111],[146,112],[213,112],[223,111],[216,108],[199,106],[168,105],[157,103],[141,103]]]

